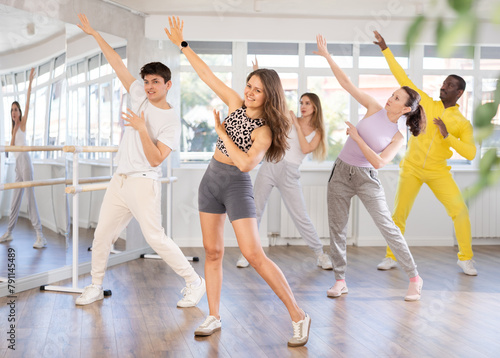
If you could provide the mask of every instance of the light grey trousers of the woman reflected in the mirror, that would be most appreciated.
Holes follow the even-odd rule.
[[[16,157],[16,183],[21,181],[33,180],[33,164],[28,153],[19,153]],[[14,189],[12,196],[12,205],[9,217],[8,232],[12,232],[17,224],[21,202],[23,200],[24,188]],[[26,198],[28,199],[28,215],[31,220],[31,225],[38,234],[42,233],[42,223],[38,214],[38,207],[35,200],[35,189],[33,187],[26,188]]]

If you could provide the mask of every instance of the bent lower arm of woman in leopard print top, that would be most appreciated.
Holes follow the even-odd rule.
[[[215,131],[224,142],[229,158],[242,172],[249,172],[260,163],[271,146],[272,133],[268,126],[254,129],[252,132],[252,146],[248,152],[242,151],[229,137],[224,124],[220,122],[219,112],[214,109]]]

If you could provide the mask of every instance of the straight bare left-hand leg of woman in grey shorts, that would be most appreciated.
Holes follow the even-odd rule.
[[[205,248],[205,281],[210,316],[220,319],[222,258],[224,257],[224,221],[226,214],[200,212],[203,247]]]

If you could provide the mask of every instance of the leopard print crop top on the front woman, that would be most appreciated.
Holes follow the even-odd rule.
[[[253,130],[255,128],[262,127],[265,124],[265,121],[263,119],[248,118],[246,108],[241,107],[227,116],[224,123],[226,125],[226,133],[229,135],[234,144],[247,153],[252,146],[251,135]],[[226,157],[229,157],[226,146],[220,138],[217,139],[216,147]]]

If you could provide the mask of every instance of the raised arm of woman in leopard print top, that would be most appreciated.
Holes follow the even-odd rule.
[[[243,99],[236,93],[231,87],[226,86],[208,65],[193,51],[189,46],[181,47],[181,43],[184,41],[184,36],[182,30],[184,28],[184,21],[180,21],[177,17],[169,17],[168,22],[170,29],[165,28],[165,33],[167,34],[169,40],[176,46],[178,46],[182,53],[186,56],[191,66],[200,77],[200,79],[205,82],[212,91],[229,107],[229,113],[241,107]]]

